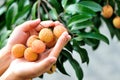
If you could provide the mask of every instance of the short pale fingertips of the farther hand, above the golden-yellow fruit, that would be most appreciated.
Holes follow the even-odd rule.
[[[44,27],[52,27],[55,26],[53,21],[42,21],[40,25],[37,26],[36,31],[40,31]]]

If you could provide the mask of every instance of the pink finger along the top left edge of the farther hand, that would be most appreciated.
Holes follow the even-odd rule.
[[[20,25],[21,26],[20,29],[22,29],[23,31],[27,32],[27,31],[30,31],[30,30],[34,29],[39,24],[40,24],[40,19],[26,21],[25,23]]]

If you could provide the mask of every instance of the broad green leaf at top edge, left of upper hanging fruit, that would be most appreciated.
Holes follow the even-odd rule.
[[[80,4],[90,8],[91,10],[98,12],[102,10],[101,5],[99,5],[98,3],[94,2],[94,1],[81,1]]]

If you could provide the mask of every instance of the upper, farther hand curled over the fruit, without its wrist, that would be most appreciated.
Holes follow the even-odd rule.
[[[41,25],[39,25],[41,24]],[[39,19],[26,21],[25,23],[17,26],[12,34],[10,35],[7,46],[11,49],[14,44],[24,44],[26,45],[26,41],[29,36],[37,35],[38,32],[44,27],[55,26],[55,22],[53,21],[42,21]],[[58,24],[57,24],[58,25]],[[7,48],[8,48],[7,47]]]

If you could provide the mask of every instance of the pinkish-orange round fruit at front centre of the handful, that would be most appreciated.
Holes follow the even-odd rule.
[[[32,42],[31,48],[32,48],[33,52],[40,54],[46,50],[46,45],[41,40],[34,40]]]

